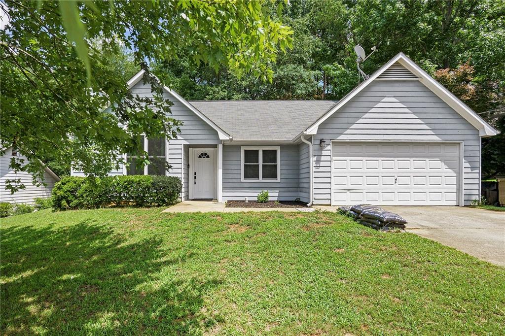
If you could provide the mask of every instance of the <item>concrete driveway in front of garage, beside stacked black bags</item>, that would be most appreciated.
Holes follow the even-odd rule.
[[[505,266],[505,212],[461,206],[384,206],[407,231]]]

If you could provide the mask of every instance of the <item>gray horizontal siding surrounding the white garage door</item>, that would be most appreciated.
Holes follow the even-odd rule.
[[[319,126],[314,144],[314,202],[331,202],[330,140],[462,141],[465,205],[479,196],[479,131],[419,81],[370,83]]]

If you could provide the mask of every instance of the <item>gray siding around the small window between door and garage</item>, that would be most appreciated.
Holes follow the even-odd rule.
[[[262,190],[268,190],[270,200],[292,201],[299,197],[298,145],[281,145],[280,182],[241,182],[240,147],[223,146],[223,200],[256,200]]]

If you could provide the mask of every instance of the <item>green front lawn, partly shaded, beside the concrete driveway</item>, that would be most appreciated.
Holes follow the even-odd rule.
[[[505,268],[335,213],[2,219],[2,334],[505,333]]]

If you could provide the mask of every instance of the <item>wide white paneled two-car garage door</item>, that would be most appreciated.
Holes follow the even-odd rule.
[[[458,205],[457,143],[332,143],[332,204]]]

